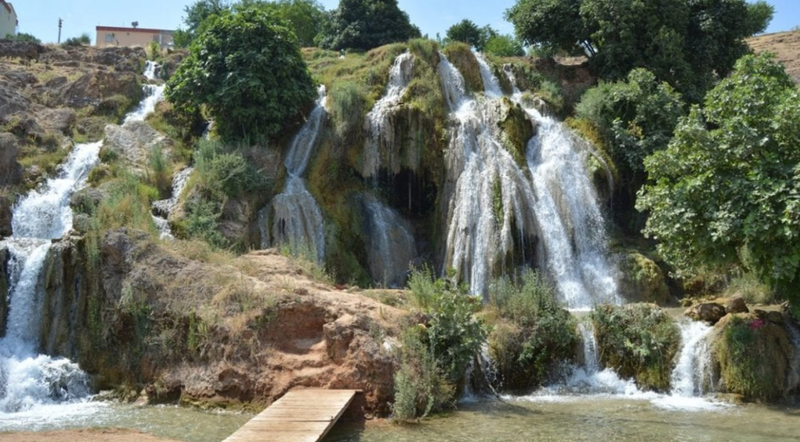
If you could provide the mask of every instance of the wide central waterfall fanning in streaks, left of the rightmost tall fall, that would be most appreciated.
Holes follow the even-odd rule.
[[[526,172],[500,140],[499,103],[466,93],[461,73],[439,54],[439,75],[450,108],[450,145],[446,152],[449,200],[444,268],[453,268],[473,293],[485,294],[495,269],[537,229],[529,209],[534,191]],[[492,82],[485,82],[493,88]],[[515,231],[516,229],[516,231]]]

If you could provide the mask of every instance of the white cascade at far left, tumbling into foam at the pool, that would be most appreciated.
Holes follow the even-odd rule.
[[[58,175],[32,191],[13,212],[6,336],[0,339],[0,413],[79,399],[90,393],[88,376],[64,358],[39,355],[42,273],[50,241],[72,229],[70,196],[97,164],[101,142],[75,146]]]

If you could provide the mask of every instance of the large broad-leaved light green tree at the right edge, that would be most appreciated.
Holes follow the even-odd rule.
[[[782,291],[800,277],[800,93],[746,56],[645,161],[645,234],[678,272],[739,265]]]

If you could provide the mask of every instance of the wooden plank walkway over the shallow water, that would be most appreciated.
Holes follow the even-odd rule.
[[[223,442],[319,442],[359,392],[292,390]]]

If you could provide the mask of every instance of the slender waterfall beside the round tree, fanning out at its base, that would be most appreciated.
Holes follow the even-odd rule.
[[[326,100],[325,86],[320,86],[317,105],[286,154],[286,187],[259,213],[262,247],[288,244],[293,253],[308,252],[317,262],[325,258],[325,226],[322,211],[306,189],[303,175],[328,114]]]

